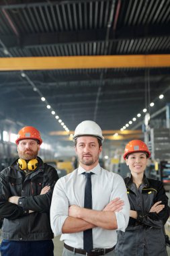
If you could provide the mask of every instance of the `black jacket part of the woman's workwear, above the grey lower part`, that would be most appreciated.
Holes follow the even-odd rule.
[[[167,222],[169,218],[169,206],[168,206],[168,197],[165,194],[165,189],[163,188],[163,183],[155,179],[146,179],[144,175],[143,183],[144,187],[142,188],[142,203],[141,205],[136,204],[136,193],[132,189],[132,177],[127,177],[124,179],[128,199],[130,201],[130,210],[138,212],[138,220],[133,218],[129,219],[128,226],[136,226],[136,224],[143,224],[146,226],[158,227],[158,221],[161,220],[163,224]],[[161,204],[165,205],[165,208],[159,213],[149,212],[151,207],[157,201],[162,201]],[[156,222],[155,222],[156,221]]]

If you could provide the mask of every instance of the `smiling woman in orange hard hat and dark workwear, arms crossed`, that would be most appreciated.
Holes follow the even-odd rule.
[[[163,183],[146,178],[144,170],[150,158],[146,144],[130,141],[124,160],[131,176],[124,179],[130,201],[130,220],[125,232],[118,231],[116,255],[166,256],[164,225],[169,218],[168,197]]]

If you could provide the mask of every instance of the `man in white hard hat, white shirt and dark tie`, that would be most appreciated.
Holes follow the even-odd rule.
[[[130,205],[122,177],[99,165],[103,135],[93,121],[83,121],[73,136],[79,168],[54,187],[50,221],[62,234],[63,255],[113,256],[116,230],[128,225]]]

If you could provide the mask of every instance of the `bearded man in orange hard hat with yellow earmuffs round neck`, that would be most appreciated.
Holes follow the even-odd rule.
[[[1,255],[54,255],[49,212],[58,174],[38,157],[41,143],[36,128],[22,128],[16,139],[19,158],[0,173]]]

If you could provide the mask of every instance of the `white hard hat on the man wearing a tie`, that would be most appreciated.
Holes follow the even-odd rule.
[[[99,125],[89,120],[83,121],[79,123],[79,125],[77,125],[75,129],[75,134],[73,136],[73,141],[75,141],[77,137],[81,135],[92,135],[92,136],[98,137],[99,139],[101,139],[101,141],[104,140],[104,137],[102,135],[102,131]]]

